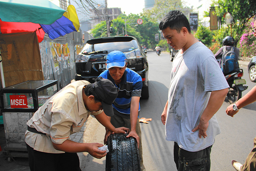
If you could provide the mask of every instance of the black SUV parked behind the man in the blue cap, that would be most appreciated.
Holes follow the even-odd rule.
[[[142,77],[142,99],[148,99],[148,62],[146,50],[142,50],[138,40],[131,36],[104,37],[90,39],[76,57],[75,80],[94,82],[101,72],[106,70],[105,56],[119,50],[127,58],[127,68],[137,72]]]

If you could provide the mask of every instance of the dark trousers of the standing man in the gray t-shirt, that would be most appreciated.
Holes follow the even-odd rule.
[[[210,153],[211,147],[207,147],[203,150],[190,152],[186,151],[178,146],[174,142],[174,162],[178,171],[210,171],[211,160]]]

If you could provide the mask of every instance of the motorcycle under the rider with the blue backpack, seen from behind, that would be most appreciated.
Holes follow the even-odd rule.
[[[244,72],[242,69],[236,69],[234,72],[225,76],[227,83],[229,84],[229,92],[227,93],[227,100],[230,104],[235,103],[242,97],[242,91],[246,90],[245,79],[241,79]]]

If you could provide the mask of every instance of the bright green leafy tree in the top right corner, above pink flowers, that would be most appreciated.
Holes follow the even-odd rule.
[[[236,40],[240,39],[246,28],[246,23],[256,14],[255,0],[217,0],[214,1],[214,4],[218,6],[216,12],[221,17],[222,23],[225,22],[223,18],[225,12],[229,12],[233,16],[232,35]],[[231,35],[230,28],[227,33]]]

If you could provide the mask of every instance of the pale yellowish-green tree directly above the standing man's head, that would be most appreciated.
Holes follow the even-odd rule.
[[[143,14],[151,19],[152,22],[159,22],[169,11],[179,10],[186,16],[192,12],[191,8],[185,7],[181,0],[155,0],[152,9],[144,9]]]

